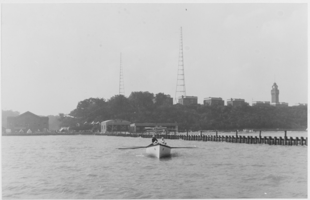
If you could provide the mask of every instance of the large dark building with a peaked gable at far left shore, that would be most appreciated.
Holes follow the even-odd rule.
[[[48,120],[48,117],[40,117],[27,111],[16,117],[7,117],[7,129],[10,129],[11,133],[48,131]]]

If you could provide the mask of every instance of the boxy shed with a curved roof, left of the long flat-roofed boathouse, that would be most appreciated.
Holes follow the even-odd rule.
[[[101,133],[129,132],[130,122],[126,120],[106,120],[101,122]]]

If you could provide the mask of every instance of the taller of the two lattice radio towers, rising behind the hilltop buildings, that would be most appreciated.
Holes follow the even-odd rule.
[[[180,48],[179,48],[179,66],[178,66],[178,80],[175,90],[175,103],[178,103],[179,96],[186,96],[185,79],[184,79],[184,62],[183,62],[183,42],[182,42],[182,27],[180,32]]]

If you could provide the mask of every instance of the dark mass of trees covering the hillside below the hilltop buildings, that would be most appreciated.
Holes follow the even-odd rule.
[[[260,107],[243,103],[220,105],[171,105],[164,93],[132,92],[127,98],[115,95],[88,98],[69,113],[59,113],[60,126],[89,129],[82,124],[122,119],[131,123],[178,123],[179,130],[306,129],[307,107]],[[77,127],[80,123],[82,126]]]

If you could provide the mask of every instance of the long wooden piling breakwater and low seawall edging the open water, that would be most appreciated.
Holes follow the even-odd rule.
[[[11,133],[5,134],[2,133],[2,136],[26,136],[26,135],[107,135],[107,136],[120,136],[120,137],[141,137],[141,138],[152,138],[153,134],[145,134],[145,133],[89,133],[89,132],[78,132],[78,133],[46,133],[46,132],[36,132],[32,134],[24,134],[24,133]],[[193,140],[193,141],[213,141],[213,142],[230,142],[230,143],[246,143],[246,144],[269,144],[269,145],[305,145],[308,146],[308,137],[305,139],[303,137],[292,138],[286,136],[286,131],[284,131],[284,137],[271,137],[271,136],[261,136],[261,131],[259,131],[259,136],[241,136],[238,135],[238,131],[236,131],[236,135],[218,135],[216,131],[215,135],[204,135],[202,131],[198,135],[189,135],[188,132],[186,134],[154,134],[156,138],[165,138],[165,139],[182,139],[182,140]]]

